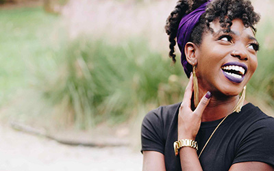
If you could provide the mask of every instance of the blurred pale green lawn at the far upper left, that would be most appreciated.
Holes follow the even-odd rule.
[[[0,10],[0,106],[18,90],[33,86],[36,67],[44,66],[54,44],[49,35],[58,18],[42,8]]]

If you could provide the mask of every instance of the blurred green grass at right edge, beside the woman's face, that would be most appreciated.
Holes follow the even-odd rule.
[[[258,68],[256,73],[249,81],[249,94],[258,96],[260,101],[264,101],[274,107],[274,34],[271,30],[274,29],[273,21],[268,20],[261,23],[258,27],[257,38],[260,42],[261,49],[258,52]]]

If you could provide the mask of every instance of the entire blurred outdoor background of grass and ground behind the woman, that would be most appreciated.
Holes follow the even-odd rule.
[[[141,170],[142,118],[188,82],[164,32],[176,2],[0,0],[0,170]],[[247,100],[273,116],[274,1],[253,5]]]

